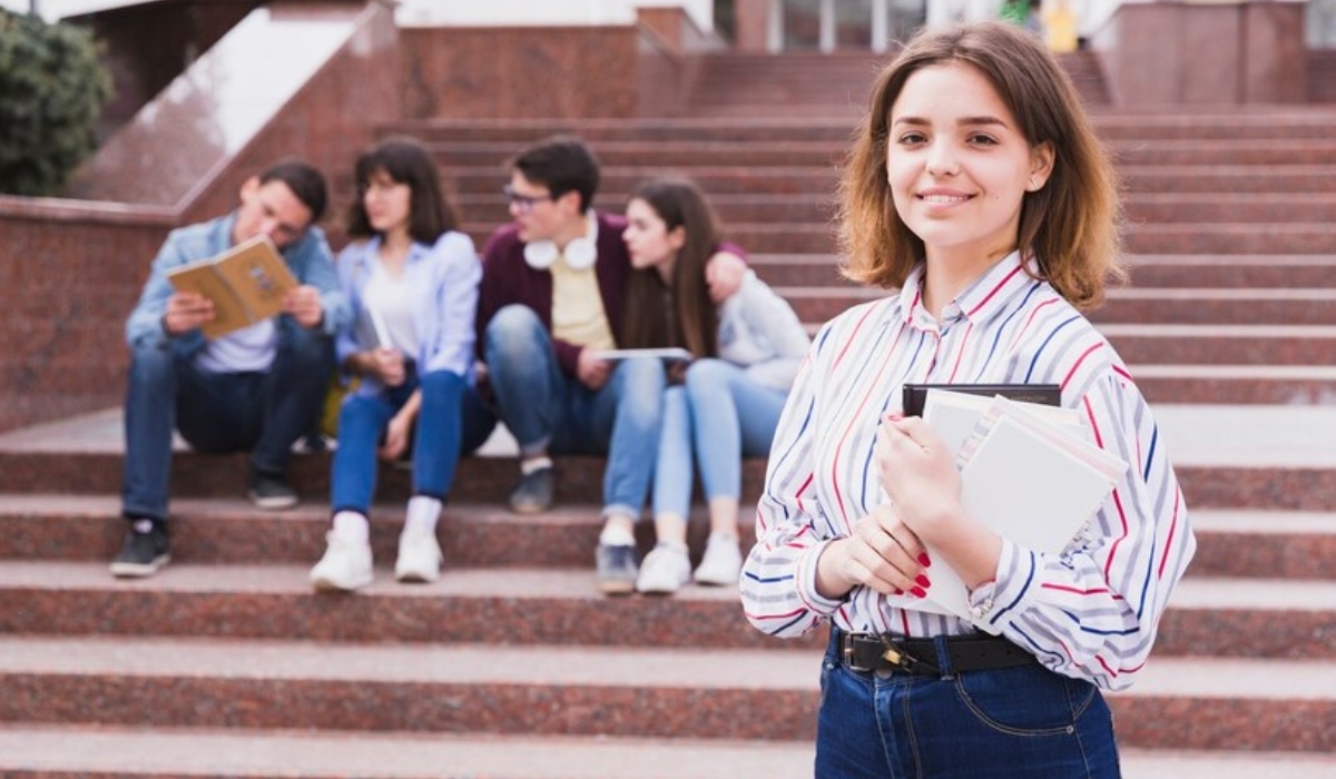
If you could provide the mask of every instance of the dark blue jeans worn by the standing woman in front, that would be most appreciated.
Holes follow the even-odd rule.
[[[1104,696],[1039,665],[943,677],[822,663],[818,779],[1117,779]],[[937,659],[943,665],[942,657]]]

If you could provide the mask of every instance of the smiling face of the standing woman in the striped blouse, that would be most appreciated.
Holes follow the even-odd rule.
[[[900,219],[929,259],[995,261],[1015,249],[1021,200],[1053,168],[974,67],[916,71],[891,106],[886,174]]]

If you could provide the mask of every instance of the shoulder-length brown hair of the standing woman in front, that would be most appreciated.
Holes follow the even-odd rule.
[[[923,259],[923,241],[900,220],[886,180],[888,122],[908,77],[949,61],[993,84],[1031,147],[1053,146],[1049,180],[1021,204],[1017,247],[1071,305],[1100,305],[1105,282],[1125,278],[1117,176],[1066,72],[1038,37],[1001,21],[919,33],[878,76],[840,180],[844,275],[898,287]]]

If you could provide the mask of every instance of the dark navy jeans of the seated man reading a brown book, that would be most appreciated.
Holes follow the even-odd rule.
[[[278,322],[267,371],[212,373],[171,343],[134,347],[126,392],[122,510],[167,520],[172,430],[196,452],[250,452],[253,473],[285,478],[293,442],[310,429],[334,371],[334,343]]]

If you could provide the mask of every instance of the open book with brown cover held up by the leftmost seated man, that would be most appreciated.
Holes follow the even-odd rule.
[[[199,293],[214,302],[214,318],[200,330],[218,338],[277,317],[283,294],[297,286],[293,271],[267,235],[167,271],[178,291]]]

